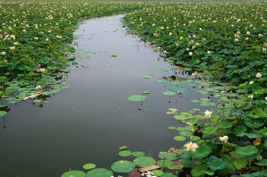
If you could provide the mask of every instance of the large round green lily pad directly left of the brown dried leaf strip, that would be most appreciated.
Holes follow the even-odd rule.
[[[135,164],[133,162],[127,161],[127,160],[120,160],[116,161],[112,164],[111,169],[115,172],[119,173],[126,173],[130,172],[135,168]],[[110,175],[109,177],[111,177]]]

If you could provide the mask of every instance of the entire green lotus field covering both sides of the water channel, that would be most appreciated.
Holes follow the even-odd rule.
[[[187,124],[169,127],[181,135],[174,139],[190,141],[181,149],[161,152],[158,157],[162,160],[157,162],[142,152],[121,148],[121,156],[137,158],[115,162],[111,166],[114,172],[131,172],[136,166],[157,163],[174,173],[154,171],[144,175],[174,177],[178,176],[176,170],[183,169],[182,176],[193,177],[267,176],[266,1],[0,1],[0,9],[0,96],[7,103],[21,101],[42,89],[45,95],[68,88],[61,78],[77,64],[70,42],[79,20],[131,10],[123,19],[130,32],[150,41],[174,68],[195,71],[189,78],[201,80],[199,87],[207,88],[202,94],[221,99],[217,110],[205,113],[193,109],[178,115],[176,108],[170,109],[167,114],[175,114],[175,119]],[[176,82],[175,76],[169,77],[171,82]],[[5,114],[0,111],[0,116]],[[92,168],[94,164],[84,166],[86,170]],[[70,171],[62,176],[95,174],[110,177],[113,172],[93,169],[87,174]]]

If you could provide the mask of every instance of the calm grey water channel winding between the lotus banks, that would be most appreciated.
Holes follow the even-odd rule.
[[[0,118],[0,176],[60,177],[70,169],[82,170],[86,163],[110,168],[123,159],[117,154],[121,146],[155,155],[183,146],[173,140],[178,132],[168,129],[180,123],[166,112],[192,109],[190,99],[195,95],[176,94],[169,100],[161,94],[168,88],[143,78],[159,79],[174,72],[153,69],[170,69],[170,64],[158,59],[149,43],[127,34],[122,17],[79,25],[73,42],[78,67],[64,78],[69,89],[50,95],[42,106],[31,99],[6,104],[11,110]],[[147,100],[127,100],[143,90],[150,91]]]

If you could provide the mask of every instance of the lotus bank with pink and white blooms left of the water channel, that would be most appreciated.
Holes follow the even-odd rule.
[[[76,50],[70,45],[82,17],[124,13],[140,4],[123,2],[0,1],[0,116],[8,106],[33,95],[34,102],[68,88],[63,81]],[[86,54],[85,54],[86,55]]]

